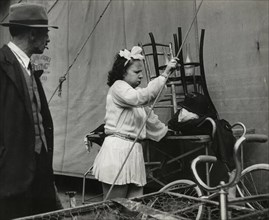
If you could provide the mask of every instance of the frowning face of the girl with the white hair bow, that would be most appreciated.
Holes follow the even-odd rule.
[[[136,88],[141,83],[142,78],[142,62],[135,60],[126,70],[126,73],[123,75],[123,80],[133,88]]]

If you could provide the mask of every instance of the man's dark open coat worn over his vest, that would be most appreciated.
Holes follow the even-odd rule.
[[[49,151],[46,169],[52,175],[53,123],[40,79],[35,79]],[[29,188],[36,170],[34,145],[33,113],[24,75],[4,45],[0,49],[0,198]]]

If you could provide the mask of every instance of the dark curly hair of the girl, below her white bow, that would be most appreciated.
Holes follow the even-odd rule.
[[[128,67],[133,63],[132,60],[130,60],[126,66],[124,66],[124,63],[127,60],[124,57],[121,57],[119,54],[115,56],[115,61],[113,64],[112,69],[108,72],[107,77],[107,85],[110,87],[114,84],[117,80],[122,80],[123,75],[126,73],[126,70]]]

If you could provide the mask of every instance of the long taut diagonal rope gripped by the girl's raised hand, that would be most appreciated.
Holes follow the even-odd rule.
[[[193,17],[193,19],[192,19],[192,22],[191,22],[191,24],[190,24],[190,26],[189,26],[189,28],[188,28],[187,33],[185,34],[185,37],[184,37],[184,39],[183,39],[183,41],[182,41],[182,44],[181,44],[181,46],[180,46],[180,48],[179,48],[179,50],[178,50],[178,53],[177,53],[176,57],[179,56],[179,53],[181,52],[181,50],[182,50],[182,48],[183,48],[183,46],[184,46],[184,44],[185,44],[185,41],[186,41],[186,39],[187,39],[187,37],[188,37],[188,35],[189,35],[189,33],[190,33],[190,30],[191,30],[192,25],[193,25],[193,23],[194,23],[194,21],[195,21],[195,19],[196,19],[196,17],[197,17],[197,14],[198,14],[198,12],[199,12],[199,10],[200,10],[200,7],[201,7],[202,3],[203,3],[203,0],[201,0],[200,4],[199,4],[199,6],[198,6],[198,8],[197,8],[197,10],[196,10],[196,13],[195,13],[195,15],[194,15],[194,17]],[[171,74],[171,73],[170,73],[170,74]],[[149,110],[149,112],[147,113],[146,119],[144,120],[144,122],[143,122],[143,124],[142,124],[142,126],[141,126],[141,128],[140,128],[140,130],[139,130],[139,132],[138,132],[138,134],[137,134],[137,136],[136,136],[136,138],[135,138],[135,140],[134,140],[134,142],[133,142],[133,144],[132,144],[132,146],[131,146],[129,152],[128,152],[128,154],[126,155],[125,160],[123,161],[123,164],[122,164],[121,168],[119,169],[119,172],[117,173],[117,175],[116,175],[116,177],[115,177],[115,179],[114,179],[114,181],[113,181],[111,187],[109,188],[109,190],[108,190],[108,192],[107,192],[107,194],[106,194],[106,197],[105,197],[104,201],[106,201],[106,200],[108,199],[108,197],[109,197],[109,195],[110,195],[110,193],[111,193],[111,191],[112,191],[112,189],[113,189],[113,187],[114,187],[114,185],[115,185],[117,179],[119,178],[119,175],[120,175],[120,173],[121,173],[121,171],[122,171],[124,165],[126,164],[128,158],[129,158],[129,156],[130,156],[130,154],[131,154],[131,152],[132,152],[132,150],[133,150],[133,148],[134,148],[134,146],[135,146],[135,143],[136,143],[137,140],[138,140],[138,137],[140,136],[140,134],[141,134],[143,128],[145,127],[145,125],[146,125],[146,123],[147,123],[147,120],[148,120],[148,118],[149,118],[151,112],[153,111],[153,108],[154,108],[155,105],[157,104],[158,99],[159,99],[159,97],[160,97],[161,94],[162,94],[162,91],[163,91],[163,89],[164,89],[164,87],[165,87],[165,85],[166,85],[166,81],[167,81],[167,80],[168,80],[168,77],[166,78],[165,83],[164,83],[163,86],[161,87],[161,89],[160,89],[159,93],[157,94],[157,96],[156,96],[156,98],[155,98],[155,100],[154,100],[152,106],[150,107],[150,110]]]

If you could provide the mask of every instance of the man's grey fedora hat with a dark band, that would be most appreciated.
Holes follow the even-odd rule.
[[[57,26],[48,25],[48,14],[46,8],[40,4],[18,3],[10,6],[9,22],[0,23],[3,26],[24,26],[34,28]]]

